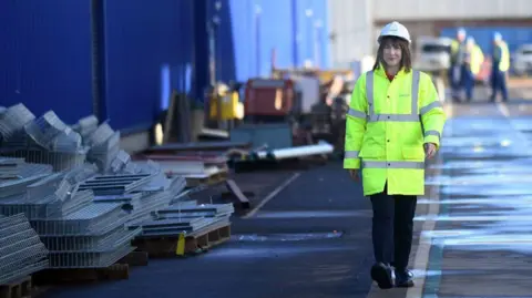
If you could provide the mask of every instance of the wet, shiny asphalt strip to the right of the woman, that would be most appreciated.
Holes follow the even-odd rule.
[[[532,297],[532,105],[447,106],[439,162],[418,203],[417,287],[370,297]]]

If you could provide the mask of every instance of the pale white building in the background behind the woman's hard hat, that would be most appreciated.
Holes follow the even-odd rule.
[[[376,51],[376,37],[382,25],[399,21],[418,37],[451,37],[463,27],[482,50],[500,31],[510,50],[532,42],[532,6],[526,0],[332,0],[328,2],[331,32],[331,63],[345,66]]]

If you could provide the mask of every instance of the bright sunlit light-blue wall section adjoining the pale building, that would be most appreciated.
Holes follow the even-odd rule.
[[[207,1],[207,20],[219,16],[222,81],[269,75],[274,50],[277,68],[301,66],[306,60],[329,66],[326,0],[222,0],[218,12],[215,2]]]

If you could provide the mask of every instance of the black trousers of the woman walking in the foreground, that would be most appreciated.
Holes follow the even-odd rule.
[[[376,261],[393,264],[396,270],[407,269],[412,248],[417,196],[390,196],[385,187],[383,193],[371,195],[370,199]]]

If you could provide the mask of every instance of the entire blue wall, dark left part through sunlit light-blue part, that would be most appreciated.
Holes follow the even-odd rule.
[[[103,115],[115,129],[147,126],[172,89],[201,100],[214,16],[218,81],[268,75],[273,50],[278,68],[327,68],[326,1],[103,1]],[[0,105],[54,110],[69,123],[93,113],[90,0],[3,0],[0,25]]]

